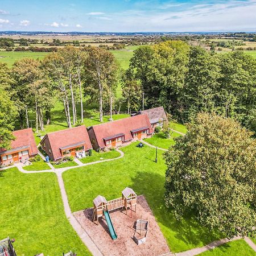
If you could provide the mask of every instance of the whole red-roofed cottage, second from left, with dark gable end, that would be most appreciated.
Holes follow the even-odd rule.
[[[42,149],[53,161],[65,156],[85,156],[92,149],[88,132],[84,125],[48,133],[40,142]]]

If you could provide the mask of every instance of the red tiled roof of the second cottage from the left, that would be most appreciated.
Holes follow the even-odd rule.
[[[92,148],[88,131],[86,130],[86,127],[84,125],[61,130],[61,131],[55,131],[53,133],[48,133],[42,139],[42,141],[46,137],[48,137],[49,143],[51,144],[51,149],[52,149],[52,154],[54,159],[60,159],[62,157],[60,153],[60,148],[67,147],[69,145],[82,142],[82,143],[85,143],[85,150],[89,150]]]

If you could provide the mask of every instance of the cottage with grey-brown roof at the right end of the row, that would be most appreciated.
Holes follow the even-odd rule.
[[[168,122],[166,112],[164,112],[164,108],[162,106],[154,109],[139,111],[134,116],[141,114],[146,114],[148,116],[153,129],[155,129],[156,126],[163,127],[163,123],[165,121]]]

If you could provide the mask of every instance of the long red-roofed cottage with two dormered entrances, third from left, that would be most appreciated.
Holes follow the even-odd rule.
[[[122,146],[129,142],[151,137],[152,133],[150,121],[145,114],[88,128],[94,150]]]

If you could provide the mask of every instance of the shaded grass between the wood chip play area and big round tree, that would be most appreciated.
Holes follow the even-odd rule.
[[[163,175],[153,172],[138,172],[132,181],[132,188],[138,195],[146,197],[173,252],[202,246],[202,243],[207,245],[220,239],[219,233],[204,228],[191,216],[184,216],[180,221],[175,218],[173,211],[164,204],[163,184],[165,178]]]

